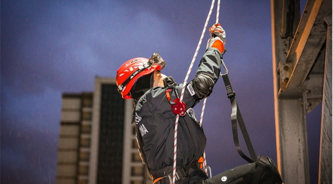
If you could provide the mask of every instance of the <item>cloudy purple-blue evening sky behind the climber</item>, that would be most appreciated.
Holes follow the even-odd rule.
[[[302,1],[301,12],[305,1]],[[217,4],[217,1],[216,1]],[[182,83],[211,1],[1,2],[1,182],[55,183],[61,95],[93,91],[134,57],[159,52]],[[216,7],[208,27],[215,23]],[[223,60],[257,154],[276,161],[270,1],[221,1]],[[204,53],[205,34],[189,80]],[[222,71],[223,72],[223,71]],[[195,110],[200,117],[202,103]],[[216,175],[246,164],[231,129],[222,78],[207,99],[207,164]],[[311,183],[318,183],[321,104],[307,115]],[[243,145],[243,149],[245,149]]]

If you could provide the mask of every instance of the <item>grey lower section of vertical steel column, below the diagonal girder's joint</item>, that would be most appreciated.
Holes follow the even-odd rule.
[[[304,97],[280,99],[279,164],[285,183],[310,183]]]

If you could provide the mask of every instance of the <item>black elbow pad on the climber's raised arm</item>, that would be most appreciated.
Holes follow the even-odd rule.
[[[200,73],[186,86],[195,99],[203,99],[211,95],[214,81],[209,74]]]

